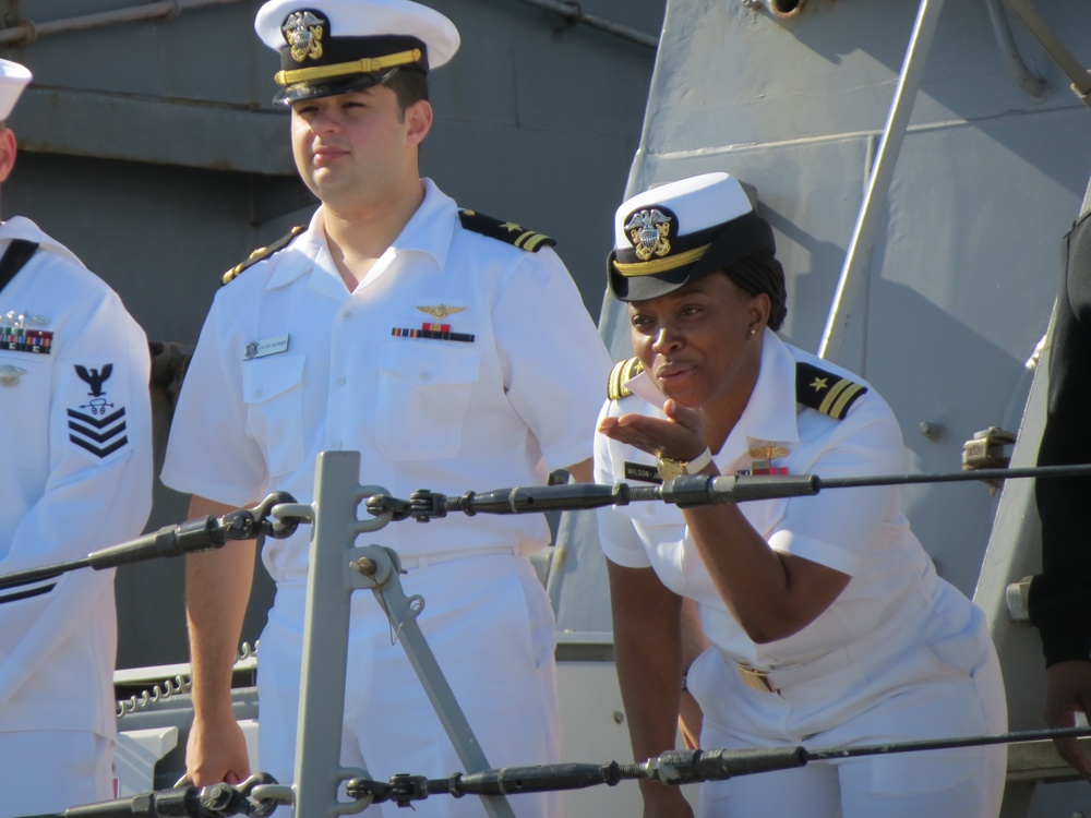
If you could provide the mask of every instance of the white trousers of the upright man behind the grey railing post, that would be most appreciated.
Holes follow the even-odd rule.
[[[401,586],[424,599],[418,622],[490,767],[556,762],[554,619],[530,562],[512,554],[433,562],[410,567]],[[293,778],[304,598],[301,584],[278,585],[259,651],[259,767],[281,783]],[[466,772],[371,591],[353,594],[347,675],[343,765],[383,782]],[[558,793],[509,796],[519,818],[555,818],[560,802]],[[485,815],[476,796],[433,795],[413,807],[415,818]],[[405,814],[393,804],[372,810]]]

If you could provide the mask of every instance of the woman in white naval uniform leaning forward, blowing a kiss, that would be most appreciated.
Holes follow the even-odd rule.
[[[777,336],[783,269],[738,180],[654,188],[614,227],[609,282],[628,304],[636,358],[611,375],[597,482],[903,470],[898,423],[875,390]],[[936,576],[896,488],[633,504],[602,509],[599,532],[637,759],[673,748],[683,686],[705,748],[1005,730],[984,616]],[[683,636],[698,639],[682,633],[684,600],[708,640],[687,671]],[[700,815],[995,818],[1005,758],[993,746],[812,762],[702,784]],[[692,815],[678,787],[642,790],[646,818]]]

